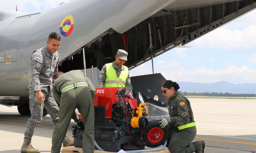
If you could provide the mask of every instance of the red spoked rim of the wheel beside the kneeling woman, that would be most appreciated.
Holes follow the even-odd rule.
[[[163,130],[160,128],[153,128],[147,134],[147,139],[152,142],[156,143],[161,141],[163,138]]]

